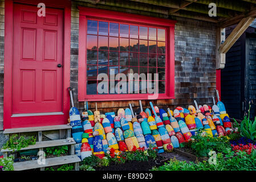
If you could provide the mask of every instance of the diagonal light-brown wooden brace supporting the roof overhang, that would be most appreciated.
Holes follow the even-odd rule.
[[[220,46],[220,53],[227,53],[230,47],[239,39],[239,37],[245,32],[255,18],[247,17],[243,18],[241,22],[237,24],[231,34],[227,37],[225,42]]]

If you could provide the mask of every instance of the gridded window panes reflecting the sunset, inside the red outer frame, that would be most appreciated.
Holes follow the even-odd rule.
[[[99,84],[97,75],[106,73],[110,78],[111,69],[115,71],[115,75],[145,73],[147,76],[147,73],[159,73],[159,84],[156,80],[148,80],[146,77],[147,84],[152,84],[152,89],[158,85],[159,93],[165,93],[165,50],[165,28],[88,19],[87,94],[99,94],[96,89]],[[141,90],[143,78],[137,81],[138,85],[133,85],[134,89],[129,93],[148,93],[148,90]],[[119,84],[118,82],[115,79],[115,85]],[[103,94],[111,94],[111,90],[115,90],[112,86],[109,84],[108,93]],[[128,90],[130,89],[127,82],[127,92]],[[115,90],[112,94],[125,93]]]

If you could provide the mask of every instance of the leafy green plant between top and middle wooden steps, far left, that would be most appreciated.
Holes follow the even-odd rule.
[[[13,151],[19,151],[21,148],[25,148],[27,146],[30,146],[32,144],[35,144],[36,138],[34,136],[25,138],[23,136],[19,137],[18,134],[11,135],[9,140],[5,143],[5,145],[2,147],[3,149],[9,149]]]

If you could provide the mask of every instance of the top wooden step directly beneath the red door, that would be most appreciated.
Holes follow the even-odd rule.
[[[13,134],[13,133],[27,133],[34,131],[49,131],[49,130],[65,130],[72,129],[70,125],[52,125],[52,126],[38,126],[38,127],[21,127],[17,129],[5,129],[3,134]]]

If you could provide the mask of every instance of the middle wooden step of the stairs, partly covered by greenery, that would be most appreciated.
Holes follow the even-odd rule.
[[[27,146],[25,148],[21,148],[21,150],[31,150],[35,148],[46,148],[46,147],[55,147],[55,146],[66,146],[70,144],[76,144],[76,142],[67,142],[67,139],[60,139],[60,140],[49,140],[49,141],[42,141],[36,142],[34,145]],[[1,152],[12,152],[13,150],[9,149],[2,149]]]

